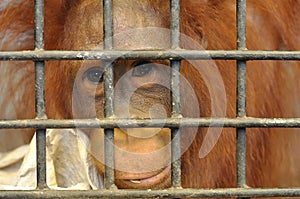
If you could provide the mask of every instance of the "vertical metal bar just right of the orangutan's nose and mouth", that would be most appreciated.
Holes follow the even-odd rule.
[[[180,0],[171,0],[171,46],[180,47]],[[171,100],[172,117],[180,116],[180,61],[171,61]],[[171,154],[172,154],[172,187],[181,187],[181,133],[179,128],[171,129]]]

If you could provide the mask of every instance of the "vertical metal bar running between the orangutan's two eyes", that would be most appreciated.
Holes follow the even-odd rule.
[[[113,48],[113,19],[112,0],[103,0],[103,40],[104,49]],[[113,65],[106,61],[104,69],[104,115],[112,117],[114,115],[114,75]],[[105,150],[105,173],[104,186],[107,189],[115,187],[114,176],[114,130],[104,129],[104,150]]]

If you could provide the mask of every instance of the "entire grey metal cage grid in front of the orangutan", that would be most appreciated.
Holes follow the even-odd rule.
[[[159,197],[159,198],[248,198],[248,197],[300,197],[300,188],[245,188],[246,186],[246,164],[245,164],[245,128],[270,128],[270,127],[300,127],[300,118],[250,118],[246,117],[246,61],[247,60],[300,60],[300,51],[248,51],[246,50],[246,27],[245,11],[246,0],[237,0],[237,37],[238,50],[233,51],[197,51],[197,50],[167,50],[167,51],[131,51],[124,55],[124,51],[109,51],[112,49],[112,1],[104,2],[104,43],[103,51],[45,51],[43,37],[43,0],[35,0],[35,50],[34,51],[14,51],[0,52],[0,60],[32,60],[35,61],[36,74],[36,119],[29,120],[0,120],[0,128],[33,128],[37,130],[37,190],[26,191],[0,191],[0,198],[133,198],[133,197]],[[179,19],[179,0],[171,0],[173,33],[178,33]],[[177,21],[177,22],[176,22]],[[176,23],[178,23],[176,25]],[[174,31],[175,30],[175,31]],[[178,35],[171,36],[172,46],[179,46],[176,38]],[[174,44],[174,45],[173,45]],[[122,56],[119,56],[123,54]],[[98,119],[78,119],[78,120],[47,120],[45,114],[44,101],[44,61],[45,60],[82,60],[82,59],[172,59],[178,60],[181,57],[187,59],[230,59],[237,61],[237,117],[236,118],[177,118],[180,114],[180,92],[176,88],[176,76],[172,77],[172,100],[178,105],[172,107],[172,118],[166,121],[159,119],[113,119],[113,66],[106,62],[105,68],[105,116]],[[172,61],[172,67],[179,71],[179,61]],[[177,92],[177,95],[175,93]],[[178,98],[177,98],[178,97]],[[173,99],[174,98],[174,99]],[[175,103],[176,104],[176,103]],[[76,124],[76,125],[75,125]],[[169,127],[177,129],[182,127],[234,127],[237,128],[237,186],[240,188],[224,189],[165,189],[165,190],[94,190],[94,191],[64,191],[47,190],[46,184],[46,137],[45,128],[98,128],[104,127],[105,143],[113,143],[113,128],[140,128],[140,127]],[[39,130],[42,129],[42,130]],[[173,132],[174,133],[174,132]],[[283,132],[284,133],[284,132]],[[179,141],[180,143],[180,141]],[[175,146],[172,148],[176,148]],[[114,164],[113,144],[105,146],[105,156],[109,157],[109,165]],[[107,160],[106,160],[107,161]],[[177,170],[177,169],[172,169]],[[174,172],[173,173],[176,173]],[[106,188],[114,186],[113,168],[105,169]],[[180,172],[180,171],[179,171]],[[173,175],[173,174],[172,174]],[[173,178],[173,177],[172,177]],[[174,178],[173,178],[174,179]],[[172,182],[173,187],[178,187],[178,179]]]

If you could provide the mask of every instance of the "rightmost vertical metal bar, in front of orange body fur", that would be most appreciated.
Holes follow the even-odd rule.
[[[246,50],[246,0],[236,1],[237,49]],[[246,61],[237,61],[237,117],[246,116]],[[236,132],[237,187],[246,185],[246,129]]]

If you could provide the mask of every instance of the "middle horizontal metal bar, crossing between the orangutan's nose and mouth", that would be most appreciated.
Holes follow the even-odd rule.
[[[28,119],[0,120],[0,128],[148,128],[148,127],[232,127],[300,128],[300,118],[168,118],[168,119]]]

